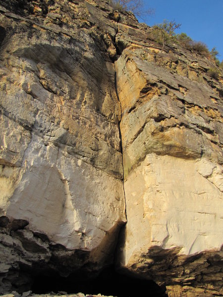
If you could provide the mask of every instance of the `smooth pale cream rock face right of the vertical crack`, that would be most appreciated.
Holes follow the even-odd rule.
[[[148,246],[180,247],[180,253],[186,255],[221,248],[222,195],[199,173],[201,162],[148,154],[129,174],[125,182],[129,219],[126,263],[130,264],[131,258],[134,263],[138,248],[146,252]],[[205,167],[206,173],[209,168]]]

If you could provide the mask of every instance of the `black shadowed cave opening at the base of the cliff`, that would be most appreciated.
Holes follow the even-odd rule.
[[[116,297],[166,297],[166,288],[158,286],[150,280],[142,280],[132,276],[119,274],[114,267],[104,269],[98,277],[93,279],[77,279],[75,275],[69,277],[46,276],[44,273],[35,276],[31,288],[35,294],[58,293],[68,294],[79,292],[85,295],[116,296]],[[52,294],[52,293],[51,293]]]

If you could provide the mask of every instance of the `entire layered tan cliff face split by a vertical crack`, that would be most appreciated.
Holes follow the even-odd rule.
[[[212,62],[162,50],[108,1],[3,0],[0,13],[1,292],[97,274],[117,245],[120,271],[169,296],[221,295]]]

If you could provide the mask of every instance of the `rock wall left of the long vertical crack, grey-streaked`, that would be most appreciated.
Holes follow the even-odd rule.
[[[2,226],[2,272],[49,262],[51,245],[61,245],[63,262],[76,259],[68,270],[97,270],[112,263],[126,220],[112,9],[25,2],[0,3],[0,215],[28,223]],[[49,265],[66,266],[55,257]]]

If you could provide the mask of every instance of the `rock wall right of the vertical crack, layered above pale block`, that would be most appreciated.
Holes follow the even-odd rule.
[[[222,83],[207,58],[162,50],[149,34],[139,41],[140,28],[121,25],[116,37],[128,40],[115,62],[127,215],[119,265],[171,284],[169,296],[181,296],[173,284],[220,292]]]

